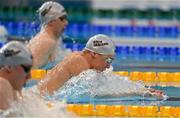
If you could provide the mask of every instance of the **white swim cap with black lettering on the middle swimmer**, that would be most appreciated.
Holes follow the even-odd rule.
[[[115,45],[110,37],[97,34],[86,43],[85,50],[89,50],[102,55],[115,55]]]

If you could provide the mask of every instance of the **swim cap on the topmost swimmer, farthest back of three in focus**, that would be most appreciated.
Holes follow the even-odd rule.
[[[45,2],[38,9],[38,13],[42,25],[46,25],[51,20],[58,19],[61,16],[67,15],[64,7],[54,1]]]

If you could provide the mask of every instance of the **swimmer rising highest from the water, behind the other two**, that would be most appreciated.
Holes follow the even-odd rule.
[[[55,60],[60,36],[68,25],[64,7],[55,1],[45,2],[38,9],[38,13],[41,31],[28,44],[34,57],[34,68],[40,68]]]

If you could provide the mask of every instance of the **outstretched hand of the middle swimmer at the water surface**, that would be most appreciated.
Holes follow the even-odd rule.
[[[165,96],[165,93],[161,90],[155,90],[152,88],[148,88],[147,90],[148,92],[145,94],[145,96],[157,97],[158,99],[163,99]]]

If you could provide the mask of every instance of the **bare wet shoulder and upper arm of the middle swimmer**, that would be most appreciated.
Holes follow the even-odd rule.
[[[84,59],[78,56],[64,59],[60,64],[54,67],[46,76],[46,79],[40,83],[40,92],[42,94],[52,94],[64,85],[72,76],[76,76],[83,70],[88,69]]]

